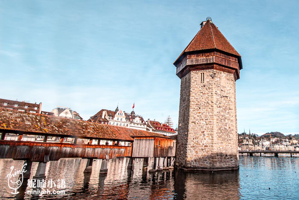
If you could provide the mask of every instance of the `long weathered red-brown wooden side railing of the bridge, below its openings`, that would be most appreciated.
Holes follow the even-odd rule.
[[[106,159],[106,155],[109,158],[131,157],[132,147],[0,140],[0,159],[47,162],[60,158]]]

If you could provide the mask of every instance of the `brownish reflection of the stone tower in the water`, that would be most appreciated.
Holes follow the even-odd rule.
[[[174,199],[240,199],[239,170],[174,172]]]

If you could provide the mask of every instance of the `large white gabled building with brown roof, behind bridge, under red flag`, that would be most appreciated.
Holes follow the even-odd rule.
[[[87,121],[138,130],[146,130],[147,128],[147,124],[141,115],[136,115],[134,111],[131,113],[126,113],[122,109],[118,109],[118,106],[116,107],[115,111],[101,109]]]

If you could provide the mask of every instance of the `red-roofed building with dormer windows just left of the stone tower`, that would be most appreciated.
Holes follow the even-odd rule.
[[[168,124],[163,124],[158,121],[147,120],[147,130],[150,132],[161,133],[166,136],[176,135],[176,131]]]

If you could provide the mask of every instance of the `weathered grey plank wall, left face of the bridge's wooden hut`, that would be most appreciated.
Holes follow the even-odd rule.
[[[154,137],[134,138],[132,157],[154,157]]]

